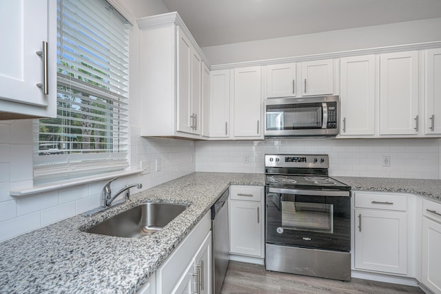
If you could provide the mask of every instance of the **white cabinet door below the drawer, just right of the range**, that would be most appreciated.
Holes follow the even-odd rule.
[[[407,273],[406,212],[355,210],[355,267]]]

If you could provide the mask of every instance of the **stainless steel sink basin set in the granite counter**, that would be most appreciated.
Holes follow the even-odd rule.
[[[187,208],[185,204],[149,202],[123,211],[86,232],[136,238],[160,231]]]

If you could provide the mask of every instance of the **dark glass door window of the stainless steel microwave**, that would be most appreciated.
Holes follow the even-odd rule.
[[[314,129],[322,127],[321,103],[267,105],[267,130]]]

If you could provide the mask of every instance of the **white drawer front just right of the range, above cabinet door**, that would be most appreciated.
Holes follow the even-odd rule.
[[[407,196],[383,193],[355,193],[356,207],[407,211]]]

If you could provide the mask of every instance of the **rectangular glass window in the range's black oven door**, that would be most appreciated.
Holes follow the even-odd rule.
[[[282,206],[283,229],[334,233],[333,204],[292,200],[282,200],[280,204]]]

